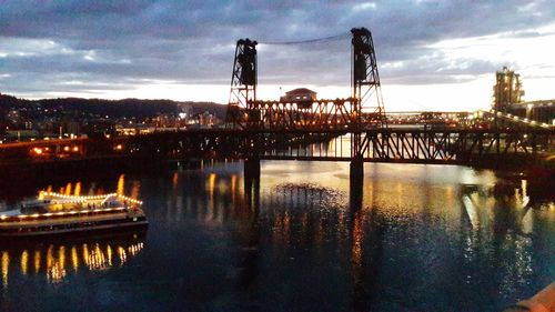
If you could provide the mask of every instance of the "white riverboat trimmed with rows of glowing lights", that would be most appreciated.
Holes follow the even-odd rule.
[[[73,197],[52,192],[0,212],[0,238],[61,235],[147,228],[142,202],[122,194]]]

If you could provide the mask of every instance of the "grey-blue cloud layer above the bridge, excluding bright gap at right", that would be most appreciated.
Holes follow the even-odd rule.
[[[296,41],[349,34],[360,26],[373,31],[384,81],[465,81],[500,64],[461,57],[453,66],[450,56],[428,46],[490,34],[545,36],[537,28],[555,21],[549,2],[0,1],[0,89],[132,89],[152,79],[226,84],[239,38]],[[260,82],[349,84],[349,36],[311,44],[261,44]]]

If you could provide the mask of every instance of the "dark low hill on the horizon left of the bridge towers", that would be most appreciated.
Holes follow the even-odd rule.
[[[111,118],[135,117],[148,118],[163,113],[175,113],[183,109],[191,113],[209,111],[220,119],[225,118],[226,105],[214,102],[178,102],[172,100],[102,100],[102,99],[42,99],[26,100],[16,97],[0,94],[0,113],[9,109],[23,109],[40,104],[42,109],[56,109],[64,113],[79,112],[95,115],[109,115]]]

